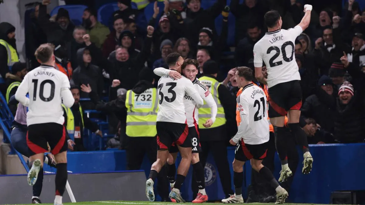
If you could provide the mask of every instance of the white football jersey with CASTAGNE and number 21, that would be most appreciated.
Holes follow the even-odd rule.
[[[237,97],[241,123],[234,141],[243,139],[246,144],[269,141],[268,104],[264,90],[254,84],[246,85]]]

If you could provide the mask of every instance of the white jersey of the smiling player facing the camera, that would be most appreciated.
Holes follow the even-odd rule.
[[[207,89],[207,87],[205,85],[201,84],[201,82],[198,80],[198,78],[195,78],[195,80],[193,81],[193,85],[194,85],[195,89],[197,90],[197,92],[199,93],[200,97],[203,98],[203,100],[205,102],[207,102],[208,105],[210,105],[210,108],[211,108],[210,117],[214,122],[215,117],[217,115],[217,104],[215,103],[212,94],[209,92],[209,90]],[[185,96],[184,96],[184,106],[185,106],[188,126],[194,127],[195,125],[197,125],[197,122],[199,121],[198,108],[196,107],[196,103],[193,100],[193,98],[187,94],[185,94]]]

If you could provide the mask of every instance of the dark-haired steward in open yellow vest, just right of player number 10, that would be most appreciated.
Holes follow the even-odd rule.
[[[71,86],[71,92],[75,103],[71,108],[64,108],[65,127],[68,132],[68,146],[72,151],[87,151],[84,147],[84,128],[96,133],[100,137],[103,136],[101,131],[98,129],[97,124],[93,123],[86,115],[84,115],[80,101],[80,90],[76,86]]]

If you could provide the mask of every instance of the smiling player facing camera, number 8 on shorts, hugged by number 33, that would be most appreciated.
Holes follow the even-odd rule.
[[[203,98],[211,108],[210,119],[203,124],[204,127],[208,128],[215,121],[215,117],[217,115],[217,104],[214,101],[212,94],[209,92],[207,87],[200,83],[200,81],[196,78],[198,74],[197,67],[199,63],[195,59],[185,59],[181,69],[185,77],[189,78],[193,82],[193,85],[200,97]],[[180,73],[174,70],[168,70],[163,67],[158,67],[154,69],[154,73],[158,76],[177,76],[176,79],[180,78]],[[195,101],[188,95],[184,97],[184,106],[187,116],[187,122],[189,127],[189,134],[192,139],[192,160],[191,164],[193,165],[193,171],[196,176],[196,184],[198,193],[196,195],[193,203],[204,203],[208,201],[207,193],[205,192],[205,177],[204,177],[204,167],[201,165],[199,161],[199,152],[201,151],[200,142],[199,142],[199,131],[198,131],[198,108],[196,107]],[[170,148],[171,157],[168,158],[168,178],[170,181],[170,186],[173,187],[175,183],[175,174],[176,174],[176,166],[175,161],[178,153],[178,149],[176,146],[172,146]],[[195,187],[193,187],[195,188]],[[173,201],[173,200],[172,200]],[[174,201],[173,201],[174,202]]]

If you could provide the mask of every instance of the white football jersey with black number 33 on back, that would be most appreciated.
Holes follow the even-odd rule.
[[[198,108],[203,105],[203,99],[188,78],[181,77],[175,80],[170,76],[162,76],[158,80],[157,121],[187,123],[184,106],[185,94],[194,99]]]

